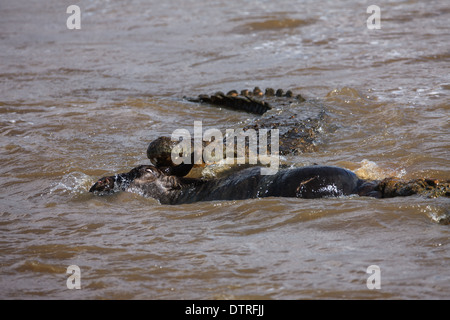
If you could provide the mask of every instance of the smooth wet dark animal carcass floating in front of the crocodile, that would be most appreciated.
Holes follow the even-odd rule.
[[[201,180],[168,176],[151,165],[128,173],[104,177],[89,190],[100,194],[115,191],[139,193],[163,204],[259,197],[321,198],[357,194],[363,183],[348,170],[312,166],[261,175],[259,167],[241,170],[222,179]]]

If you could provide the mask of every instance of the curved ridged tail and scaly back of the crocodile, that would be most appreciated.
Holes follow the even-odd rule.
[[[306,100],[301,94],[292,90],[266,88],[264,93],[259,87],[251,90],[231,90],[226,95],[216,92],[214,95],[199,95],[187,98],[187,101],[206,103],[236,111],[246,111],[262,115],[242,129],[278,129],[280,131],[280,155],[301,154],[317,151],[317,138],[326,122],[323,105],[313,100]],[[295,108],[301,105],[303,108]],[[268,112],[273,111],[273,112]],[[299,114],[301,112],[301,114]],[[308,114],[308,116],[305,116]]]

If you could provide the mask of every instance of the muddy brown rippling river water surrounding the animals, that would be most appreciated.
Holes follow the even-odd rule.
[[[88,192],[149,163],[158,136],[258,117],[183,96],[255,86],[327,108],[318,151],[287,163],[450,179],[447,1],[74,4],[79,30],[70,3],[0,1],[0,298],[450,298],[448,198],[165,206]]]

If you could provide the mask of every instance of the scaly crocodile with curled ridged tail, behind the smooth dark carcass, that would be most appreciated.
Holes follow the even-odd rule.
[[[240,134],[245,135],[246,132],[253,129],[259,139],[260,129],[266,129],[270,134],[272,129],[279,130],[278,145],[276,146],[279,155],[298,155],[317,151],[317,140],[327,118],[323,105],[307,101],[300,94],[294,95],[291,90],[285,92],[283,89],[267,88],[263,92],[259,87],[255,87],[252,91],[241,90],[240,94],[237,90],[231,90],[227,94],[217,92],[213,95],[202,94],[197,98],[184,97],[184,99],[192,103],[225,107],[260,115],[261,117],[243,126]],[[297,106],[300,105],[301,108],[298,108]],[[305,116],[304,113],[307,115]],[[224,138],[224,143],[227,138]],[[271,141],[270,138],[267,140]],[[198,167],[198,165],[178,166],[175,164],[171,159],[171,154],[177,144],[178,142],[172,141],[168,136],[158,137],[148,145],[147,157],[153,165],[167,174],[184,176],[189,172],[189,168]],[[191,146],[193,145],[194,141],[192,140]],[[203,141],[203,148],[207,145],[208,142]],[[269,142],[267,143],[267,152],[271,153],[271,151],[272,145]],[[247,159],[249,152],[248,142],[246,142],[245,155]],[[257,152],[259,153],[259,150]],[[237,151],[234,150],[234,157],[236,156]],[[194,154],[192,153],[191,159],[193,158]],[[223,158],[226,158],[225,154]]]

